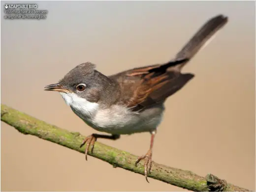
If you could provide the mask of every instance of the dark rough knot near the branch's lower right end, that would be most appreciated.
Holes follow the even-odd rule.
[[[224,179],[219,179],[215,175],[208,173],[205,176],[207,181],[207,186],[210,192],[223,192],[226,188],[226,181]]]

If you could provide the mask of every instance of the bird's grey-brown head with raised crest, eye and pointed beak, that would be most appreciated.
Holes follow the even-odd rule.
[[[102,84],[102,78],[104,77],[95,70],[94,64],[90,62],[82,63],[69,71],[58,83],[47,85],[44,90],[58,91],[63,97],[75,95],[96,103],[104,87]]]

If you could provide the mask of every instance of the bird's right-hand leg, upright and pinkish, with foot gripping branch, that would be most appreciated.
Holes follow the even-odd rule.
[[[147,182],[148,181],[148,173],[150,173],[150,169],[151,169],[151,165],[152,165],[152,149],[153,149],[153,143],[154,143],[154,137],[156,136],[156,131],[151,132],[151,141],[150,141],[150,148],[148,150],[148,152],[146,153],[146,155],[143,155],[141,157],[138,157],[138,159],[135,162],[135,166],[137,166],[137,164],[144,159],[145,163],[144,163],[144,173],[145,173],[145,177]]]

